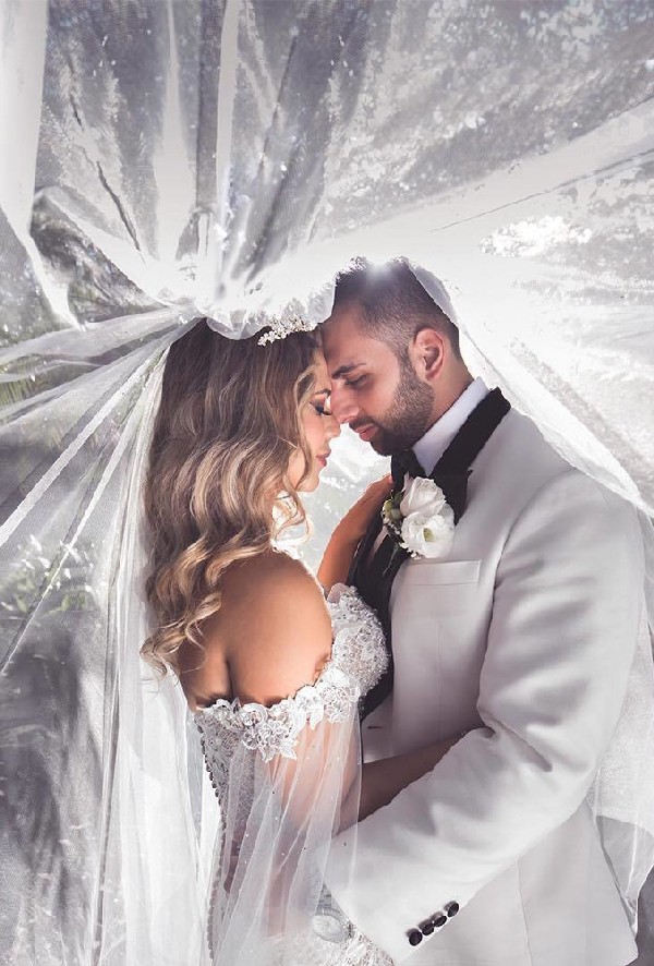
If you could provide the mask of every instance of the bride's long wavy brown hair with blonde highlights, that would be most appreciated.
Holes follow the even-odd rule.
[[[288,471],[296,450],[311,467],[301,413],[317,348],[307,333],[228,339],[201,319],[169,349],[144,490],[157,628],[141,654],[161,676],[184,641],[203,649],[225,570],[306,522]]]

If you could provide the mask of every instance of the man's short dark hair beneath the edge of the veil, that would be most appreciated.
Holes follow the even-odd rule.
[[[334,309],[355,302],[364,330],[404,357],[413,336],[425,326],[449,340],[457,359],[459,329],[420,283],[407,258],[373,265],[354,258],[336,277]]]

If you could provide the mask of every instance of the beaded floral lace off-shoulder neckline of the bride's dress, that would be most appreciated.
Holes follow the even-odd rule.
[[[334,628],[331,656],[314,684],[270,707],[220,698],[195,712],[216,790],[239,741],[264,761],[276,754],[295,758],[298,736],[306,725],[315,728],[323,719],[344,721],[351,705],[382,677],[388,657],[374,612],[355,590],[340,584],[332,589],[327,607]]]

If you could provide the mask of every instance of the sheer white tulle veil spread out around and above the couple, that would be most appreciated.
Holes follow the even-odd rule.
[[[166,349],[328,313],[404,254],[464,355],[642,514],[654,624],[654,11],[10,0],[0,11],[0,955],[206,961],[213,789],[138,659]],[[380,469],[343,434],[319,557]],[[632,919],[654,842],[651,638],[592,790]],[[651,907],[641,907],[647,929]]]

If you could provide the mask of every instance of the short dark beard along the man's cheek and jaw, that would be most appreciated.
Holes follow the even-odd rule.
[[[434,390],[417,378],[409,359],[402,359],[395,399],[384,419],[375,421],[377,432],[371,446],[380,456],[410,449],[432,425],[433,412]]]

